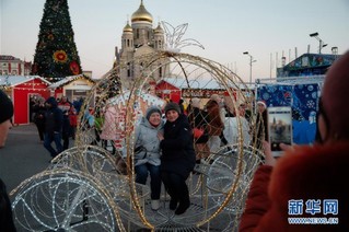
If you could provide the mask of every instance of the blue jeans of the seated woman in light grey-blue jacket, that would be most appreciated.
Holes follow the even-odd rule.
[[[148,178],[148,172],[150,174],[150,189],[151,199],[160,199],[161,193],[161,177],[160,177],[160,166],[152,165],[150,163],[144,163],[135,166],[136,182],[146,185]]]

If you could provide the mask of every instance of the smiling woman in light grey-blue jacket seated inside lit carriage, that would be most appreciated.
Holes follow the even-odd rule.
[[[135,172],[136,182],[146,185],[150,174],[151,208],[160,208],[161,175],[160,175],[160,140],[158,134],[163,134],[164,121],[161,109],[151,106],[136,128]]]

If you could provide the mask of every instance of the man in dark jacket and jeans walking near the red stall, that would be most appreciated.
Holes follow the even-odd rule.
[[[45,102],[45,106],[47,111],[45,112],[44,147],[49,151],[51,158],[55,158],[63,150],[61,144],[63,114],[58,108],[55,97],[49,97]],[[51,146],[53,142],[56,144],[56,150]]]

